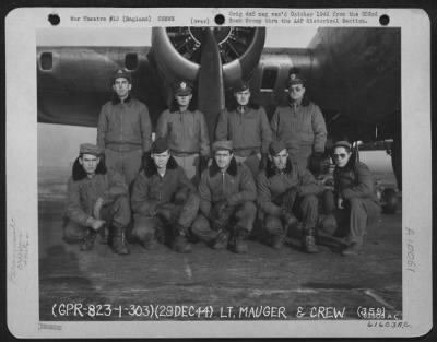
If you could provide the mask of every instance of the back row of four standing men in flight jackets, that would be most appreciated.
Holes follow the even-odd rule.
[[[106,164],[125,176],[128,185],[141,168],[142,155],[150,154],[152,125],[147,107],[131,97],[131,76],[118,70],[113,79],[114,97],[101,110],[97,145],[104,150]],[[307,167],[308,158],[324,152],[327,129],[317,105],[305,95],[304,80],[291,74],[287,106],[276,108],[269,125],[262,107],[255,105],[247,83],[234,87],[235,105],[223,110],[216,127],[217,140],[231,140],[237,162],[245,162],[256,178],[264,168],[273,135],[286,143],[288,154]],[[192,109],[192,86],[178,82],[174,102],[163,111],[156,137],[166,138],[170,152],[187,176],[196,182],[208,165],[210,141],[205,118]]]

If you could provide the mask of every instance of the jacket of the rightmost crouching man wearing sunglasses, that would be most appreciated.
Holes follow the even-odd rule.
[[[345,167],[334,169],[334,191],[345,200],[352,198],[368,198],[378,201],[375,189],[375,179],[366,164],[351,157]]]

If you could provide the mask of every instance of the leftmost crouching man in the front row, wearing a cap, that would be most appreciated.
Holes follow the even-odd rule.
[[[90,250],[97,232],[111,226],[114,251],[127,255],[125,229],[131,214],[128,186],[121,175],[106,170],[98,146],[81,144],[79,153],[68,184],[63,238],[69,243],[82,240],[81,249]]]

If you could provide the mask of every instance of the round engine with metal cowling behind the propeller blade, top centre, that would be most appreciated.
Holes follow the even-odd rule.
[[[194,82],[200,69],[205,27],[154,27],[152,50],[166,83]],[[223,66],[224,86],[247,80],[258,66],[265,42],[265,27],[214,27]]]

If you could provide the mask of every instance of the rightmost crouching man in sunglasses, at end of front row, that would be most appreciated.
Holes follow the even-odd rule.
[[[333,145],[335,209],[321,224],[330,233],[347,236],[343,256],[359,253],[366,227],[378,221],[381,208],[375,179],[366,164],[358,162],[347,141]]]

